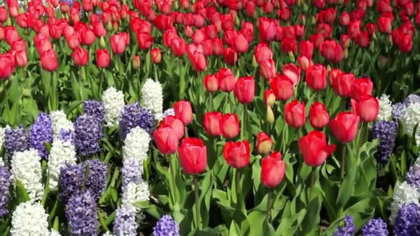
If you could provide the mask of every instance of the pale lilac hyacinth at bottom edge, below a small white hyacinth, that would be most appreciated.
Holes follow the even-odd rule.
[[[134,208],[123,205],[117,209],[113,232],[116,236],[137,235],[137,222],[135,222]]]

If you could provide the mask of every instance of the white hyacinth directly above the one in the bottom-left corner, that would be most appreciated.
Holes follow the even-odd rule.
[[[12,156],[12,180],[21,181],[30,199],[38,200],[44,195],[42,184],[41,156],[38,151],[30,148],[23,152],[16,152]]]

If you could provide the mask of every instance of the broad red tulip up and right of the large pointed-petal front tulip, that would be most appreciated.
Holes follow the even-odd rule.
[[[356,137],[359,121],[359,115],[354,114],[354,112],[339,112],[330,121],[332,134],[341,143],[349,143]]]

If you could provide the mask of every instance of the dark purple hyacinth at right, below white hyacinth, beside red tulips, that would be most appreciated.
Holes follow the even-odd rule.
[[[395,141],[398,135],[398,124],[395,121],[377,121],[372,127],[372,137],[379,138],[378,151],[375,154],[376,160],[383,164],[390,161],[390,155],[395,148]]]

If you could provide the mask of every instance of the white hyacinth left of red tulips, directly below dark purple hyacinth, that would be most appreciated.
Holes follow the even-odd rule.
[[[147,159],[150,141],[151,137],[145,130],[138,126],[132,128],[124,140],[122,157],[124,159],[137,159],[142,165],[143,161]]]

